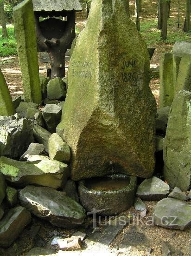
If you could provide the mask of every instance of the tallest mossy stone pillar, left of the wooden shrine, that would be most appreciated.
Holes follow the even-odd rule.
[[[25,0],[14,7],[13,16],[25,102],[39,104],[42,95],[32,0]]]

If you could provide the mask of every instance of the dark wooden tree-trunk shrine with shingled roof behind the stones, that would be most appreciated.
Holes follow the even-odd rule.
[[[39,52],[47,52],[51,77],[65,76],[65,53],[75,39],[76,12],[82,11],[78,0],[32,0]],[[55,17],[65,17],[60,20]],[[39,18],[47,18],[40,21]]]

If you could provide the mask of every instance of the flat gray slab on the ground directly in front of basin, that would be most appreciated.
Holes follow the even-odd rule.
[[[109,246],[115,237],[128,225],[128,221],[129,219],[125,216],[115,217],[106,222],[101,230],[90,234],[88,240]]]

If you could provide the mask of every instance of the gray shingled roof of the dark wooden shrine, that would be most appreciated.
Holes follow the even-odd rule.
[[[78,0],[32,0],[34,12],[82,11]]]

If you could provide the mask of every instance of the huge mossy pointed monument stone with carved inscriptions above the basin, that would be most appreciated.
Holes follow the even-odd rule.
[[[117,172],[153,174],[156,101],[149,64],[127,1],[93,0],[70,60],[57,127],[72,150],[72,179],[106,175],[110,162]]]

